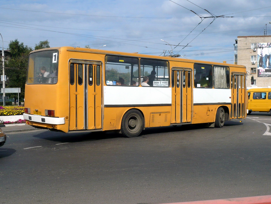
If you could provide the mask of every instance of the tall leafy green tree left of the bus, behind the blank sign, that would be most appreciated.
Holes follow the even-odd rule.
[[[5,63],[5,75],[9,78],[6,87],[21,88],[19,97],[24,98],[24,88],[26,83],[26,68],[28,64],[28,55],[33,50],[31,47],[25,46],[17,39],[10,41],[9,50],[12,58]],[[17,98],[18,94],[9,94],[11,98]]]

